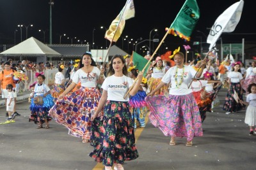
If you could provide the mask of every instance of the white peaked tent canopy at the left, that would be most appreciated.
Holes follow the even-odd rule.
[[[45,45],[38,39],[33,37],[22,41],[18,45],[1,52],[0,55],[44,55],[44,56],[60,56],[61,54],[52,50],[49,46]]]

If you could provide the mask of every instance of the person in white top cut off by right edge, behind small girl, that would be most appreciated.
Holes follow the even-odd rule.
[[[255,69],[255,67],[256,67],[256,61],[253,61],[252,67],[248,67],[248,69],[246,69],[246,73],[244,74],[245,78],[243,80],[242,85],[243,85],[243,89],[246,92],[248,89],[248,85],[256,82],[256,73],[255,73],[255,71],[253,71],[253,69]]]

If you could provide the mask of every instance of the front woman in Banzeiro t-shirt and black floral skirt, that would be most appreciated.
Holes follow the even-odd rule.
[[[138,158],[135,145],[134,128],[131,112],[129,111],[129,97],[125,94],[132,87],[132,78],[127,75],[127,67],[122,55],[115,55],[109,65],[108,77],[102,84],[102,97],[92,120],[92,144],[94,150],[90,157],[103,162],[105,169],[124,169],[125,160]],[[138,74],[138,80],[129,92],[134,96],[139,88],[143,72]],[[98,115],[104,108],[103,122]],[[96,119],[95,119],[96,118]]]

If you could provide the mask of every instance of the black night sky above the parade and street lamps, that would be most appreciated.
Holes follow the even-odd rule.
[[[0,44],[13,45],[14,37],[16,37],[16,44],[20,43],[20,27],[17,27],[18,24],[33,24],[32,28],[28,27],[28,38],[33,36],[40,41],[44,41],[44,33],[38,32],[38,29],[44,30],[45,43],[49,43],[49,1],[1,0]],[[95,28],[95,48],[105,47],[106,39],[104,39],[104,34],[106,31],[100,29],[100,26],[108,28],[124,7],[125,2],[125,0],[54,0],[52,8],[52,43],[60,43],[60,35],[63,33],[67,34],[67,36],[61,37],[61,43],[71,43],[67,37],[77,37],[80,41],[86,40],[86,42],[92,43],[93,28]],[[157,34],[152,32],[151,35],[161,41],[165,34],[164,28],[170,27],[184,2],[184,0],[134,0],[135,17],[126,20],[122,36],[127,35],[135,41],[139,38],[149,39],[150,31],[157,28]],[[203,42],[206,41],[205,36],[209,34],[207,28],[214,24],[216,18],[223,11],[236,2],[237,0],[198,0],[200,19],[191,35],[191,42],[184,42],[180,38],[168,35],[164,46],[174,50],[177,46],[191,45],[193,41],[200,41],[200,37]],[[241,20],[234,32],[222,35],[223,43],[241,43],[241,38],[245,38],[245,41],[255,40],[255,6],[256,3],[253,0],[244,1]],[[15,33],[16,29],[17,32]],[[241,33],[242,35],[239,35]],[[248,35],[248,33],[254,34]],[[22,40],[24,39],[26,39],[25,27],[22,28]],[[74,43],[77,43],[76,39],[73,39]],[[148,45],[148,41],[145,41],[145,44]],[[125,50],[128,44],[125,41],[122,42],[122,38],[120,38],[116,45],[123,45]],[[154,46],[157,45],[158,43],[154,43]]]

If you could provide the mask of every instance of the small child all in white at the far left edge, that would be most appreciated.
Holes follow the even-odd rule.
[[[6,100],[6,111],[8,112],[7,121],[15,122],[13,119],[15,118],[15,114],[13,114],[14,108],[14,96],[13,96],[13,85],[8,84],[6,86],[6,90],[8,91],[7,100]]]

